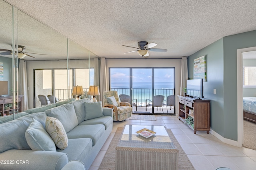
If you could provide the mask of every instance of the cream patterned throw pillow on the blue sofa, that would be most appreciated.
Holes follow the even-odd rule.
[[[68,136],[62,123],[54,117],[46,117],[45,128],[59,149],[68,147]]]

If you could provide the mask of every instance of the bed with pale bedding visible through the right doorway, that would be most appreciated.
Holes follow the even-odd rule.
[[[256,97],[244,97],[244,119],[256,123]]]

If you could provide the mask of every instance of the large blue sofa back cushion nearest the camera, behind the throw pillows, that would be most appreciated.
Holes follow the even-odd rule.
[[[31,150],[26,141],[25,132],[28,129],[32,118],[45,126],[45,113],[32,113],[0,124],[0,152],[10,149]]]

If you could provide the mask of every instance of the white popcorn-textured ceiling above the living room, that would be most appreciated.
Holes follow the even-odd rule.
[[[138,53],[123,54],[135,49],[122,45],[138,47],[138,41],[154,42],[158,44],[155,48],[168,50],[166,53],[150,51],[152,58],[188,56],[224,36],[256,29],[255,0],[6,2],[106,58],[140,57]],[[30,36],[35,35],[26,35],[26,41]],[[31,44],[27,42],[27,49]],[[45,50],[36,52],[45,53]]]

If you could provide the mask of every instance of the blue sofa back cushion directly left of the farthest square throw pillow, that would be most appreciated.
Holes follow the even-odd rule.
[[[85,99],[70,102],[70,104],[72,104],[75,108],[78,124],[84,121],[84,117],[85,117],[84,102],[90,103],[91,101],[90,99],[85,98]]]

